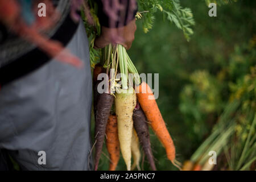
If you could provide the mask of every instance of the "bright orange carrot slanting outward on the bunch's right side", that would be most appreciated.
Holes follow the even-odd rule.
[[[175,160],[174,142],[167,130],[150,86],[148,86],[146,82],[142,82],[141,85],[135,88],[135,91],[137,93],[139,104],[141,104],[142,110],[150,122],[152,129],[155,131],[160,142],[162,142],[164,148],[166,148],[167,158],[171,160],[172,164],[180,169],[179,164],[177,165],[177,161]]]

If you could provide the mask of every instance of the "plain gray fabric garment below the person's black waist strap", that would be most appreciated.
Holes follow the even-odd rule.
[[[0,91],[0,148],[9,150],[24,170],[92,168],[92,78],[81,21],[67,48],[84,68],[53,59]]]

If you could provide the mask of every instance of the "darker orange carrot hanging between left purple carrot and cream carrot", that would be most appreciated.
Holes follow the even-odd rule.
[[[120,154],[116,115],[109,116],[106,126],[106,136],[106,146],[110,156],[109,171],[115,171]]]

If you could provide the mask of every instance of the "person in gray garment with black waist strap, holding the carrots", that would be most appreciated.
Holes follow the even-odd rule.
[[[46,17],[37,16],[39,2]],[[22,170],[93,169],[89,48],[73,9],[81,2],[0,0],[0,169],[8,169],[1,161],[9,155]],[[102,33],[94,46],[129,49],[135,0],[96,2]],[[122,8],[112,11],[117,3]]]

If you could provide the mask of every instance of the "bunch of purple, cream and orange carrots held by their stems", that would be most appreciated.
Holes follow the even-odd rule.
[[[110,76],[106,81],[107,86],[105,85],[107,88],[104,88],[107,92],[104,93],[98,92],[102,86],[101,80],[98,80],[100,73]],[[121,73],[120,78],[117,73]],[[134,76],[129,77],[129,73],[133,73]],[[141,82],[137,69],[123,46],[109,45],[102,49],[101,63],[93,70],[93,88],[96,121],[94,170],[98,169],[105,136],[110,158],[109,170],[115,170],[117,167],[120,150],[128,171],[136,167],[141,170],[140,145],[151,169],[156,170],[148,124],[166,148],[167,158],[179,168],[180,164],[175,159],[174,142],[156,104],[154,94],[146,82]],[[133,164],[131,157],[134,160]]]

